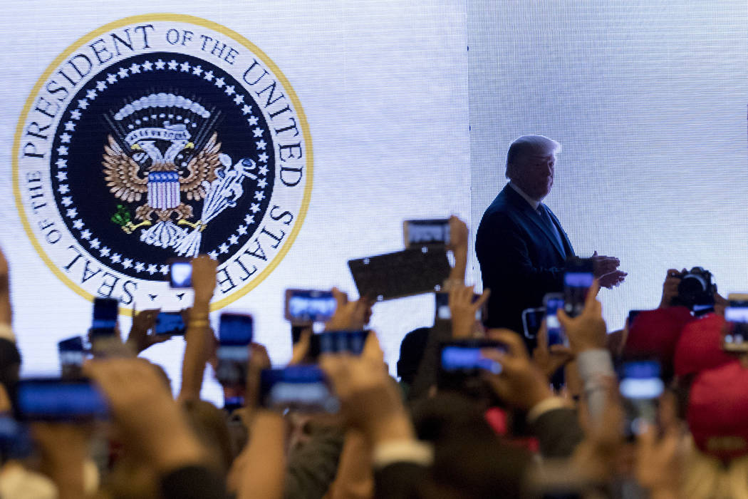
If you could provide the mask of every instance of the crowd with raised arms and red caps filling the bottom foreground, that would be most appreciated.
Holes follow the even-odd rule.
[[[490,290],[476,299],[465,285],[468,229],[454,217],[450,224],[451,319],[436,316],[405,338],[400,379],[384,363],[377,331],[360,354],[312,358],[309,327],[289,365],[318,366],[337,411],[264,405],[260,379],[272,366],[258,343],[248,346],[245,383],[224,387],[242,407],[200,400],[206,365],[216,361],[209,320],[216,263],[200,256],[192,260],[177,397],[164,371],[138,357],[168,339],[153,331],[158,310],[142,310],[118,355],[83,367],[108,417],[30,423],[34,449],[4,450],[0,498],[748,497],[748,370],[721,352],[719,313],[695,319],[669,307],[677,293],[669,272],[660,307],[607,331],[595,281],[580,315],[559,311],[568,343],[549,347],[544,326],[530,352],[518,331],[485,330],[476,320]],[[621,278],[607,272],[613,268],[595,260],[596,275],[608,281]],[[0,257],[0,406],[10,414],[21,357],[8,276]],[[337,308],[325,331],[365,330],[375,303],[333,293]],[[466,375],[464,386],[441,382],[441,346],[459,342],[483,345],[485,368]],[[703,361],[682,360],[689,355]],[[640,358],[657,360],[664,389],[652,417],[633,427],[616,366]]]

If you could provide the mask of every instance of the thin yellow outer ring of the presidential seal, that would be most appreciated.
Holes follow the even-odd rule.
[[[88,291],[84,290],[82,287],[79,287],[78,284],[70,280],[70,278],[67,277],[67,275],[64,275],[63,272],[61,272],[60,269],[58,269],[57,266],[55,266],[54,263],[52,263],[52,260],[49,259],[47,254],[44,252],[43,248],[39,244],[39,241],[37,240],[36,236],[34,236],[34,231],[31,230],[31,226],[28,222],[28,217],[26,216],[25,207],[23,206],[22,200],[21,200],[21,188],[20,188],[20,182],[19,182],[19,172],[18,172],[18,153],[21,147],[21,137],[23,135],[23,128],[25,126],[26,120],[28,118],[28,113],[31,111],[31,106],[34,105],[34,101],[36,100],[37,94],[39,94],[40,89],[42,88],[42,85],[44,82],[46,82],[47,79],[49,79],[49,76],[52,76],[52,72],[56,70],[60,64],[62,64],[65,59],[67,59],[70,55],[73,54],[77,49],[79,49],[84,43],[93,40],[93,38],[98,37],[99,35],[105,34],[108,31],[112,31],[117,28],[122,28],[123,26],[133,24],[135,22],[144,22],[144,21],[174,21],[174,22],[187,22],[192,23],[195,25],[203,26],[203,28],[209,28],[213,31],[218,31],[221,34],[225,34],[227,37],[233,38],[233,40],[236,40],[237,42],[241,43],[243,46],[245,46],[247,49],[249,49],[254,55],[257,55],[263,63],[266,64],[267,67],[273,72],[273,74],[281,81],[281,84],[283,84],[283,89],[288,93],[289,98],[291,99],[291,102],[293,104],[293,107],[295,108],[296,115],[298,116],[298,120],[301,124],[301,132],[304,135],[304,146],[307,153],[307,185],[304,187],[304,197],[301,199],[301,209],[298,211],[298,215],[296,218],[296,223],[294,224],[291,233],[289,234],[289,238],[286,241],[286,244],[283,245],[281,248],[281,251],[278,252],[277,255],[275,255],[275,258],[268,264],[268,266],[263,269],[262,272],[260,272],[260,275],[257,276],[257,278],[254,278],[250,283],[246,284],[245,287],[242,287],[239,291],[236,291],[236,293],[233,293],[233,295],[228,296],[227,298],[214,301],[212,304],[210,304],[210,310],[218,310],[220,308],[225,307],[227,304],[233,303],[233,301],[236,301],[242,296],[245,296],[247,293],[249,293],[251,290],[253,290],[257,285],[259,285],[268,275],[270,275],[273,270],[275,270],[275,267],[278,266],[278,263],[281,263],[281,260],[283,260],[283,257],[286,256],[288,251],[291,249],[291,246],[293,245],[293,242],[296,239],[296,236],[298,236],[299,231],[301,230],[301,225],[304,224],[304,218],[307,216],[307,211],[309,209],[309,202],[312,198],[312,183],[313,183],[313,164],[314,164],[314,155],[312,150],[312,135],[309,131],[309,123],[307,122],[307,116],[304,114],[304,108],[301,107],[301,102],[298,100],[298,96],[296,95],[295,91],[293,90],[291,84],[289,83],[288,79],[286,79],[286,76],[281,72],[281,69],[273,62],[265,52],[260,50],[254,43],[247,40],[245,37],[243,37],[241,34],[237,33],[236,31],[233,31],[233,29],[226,28],[223,25],[218,24],[217,22],[209,21],[208,19],[203,19],[201,17],[195,17],[195,16],[188,16],[187,14],[175,14],[175,13],[151,13],[151,14],[141,14],[138,16],[129,16],[125,17],[123,19],[119,19],[117,21],[109,22],[106,25],[101,26],[100,28],[91,31],[88,34],[83,35],[78,40],[76,40],[73,45],[69,46],[67,49],[64,50],[60,55],[55,58],[54,61],[52,61],[52,64],[49,64],[49,66],[46,68],[40,79],[37,81],[37,84],[34,85],[34,88],[31,90],[31,94],[29,94],[28,99],[26,100],[25,105],[23,106],[23,109],[21,111],[21,117],[18,122],[18,126],[16,126],[16,138],[13,141],[13,151],[12,151],[12,164],[13,164],[13,195],[15,195],[16,198],[16,208],[18,209],[19,216],[21,218],[21,223],[23,224],[23,228],[26,231],[26,234],[28,235],[28,239],[31,240],[31,244],[34,245],[34,249],[37,250],[37,253],[41,257],[44,263],[46,263],[46,266],[49,267],[50,270],[52,270],[52,273],[54,273],[61,281],[63,281],[65,284],[67,284],[67,287],[70,287],[73,291],[78,293],[83,298],[87,299],[88,301],[93,301],[93,295],[91,293],[88,293]],[[133,314],[132,309],[129,308],[123,308],[120,307],[120,313],[123,313],[124,315],[132,315]]]

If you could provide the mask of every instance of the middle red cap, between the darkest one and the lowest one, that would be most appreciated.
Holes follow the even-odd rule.
[[[683,328],[675,346],[677,376],[699,373],[735,361],[735,355],[722,349],[722,329],[725,324],[723,316],[710,313]]]

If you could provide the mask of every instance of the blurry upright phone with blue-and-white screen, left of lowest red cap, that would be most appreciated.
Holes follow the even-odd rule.
[[[625,434],[628,438],[640,435],[645,423],[652,425],[657,418],[657,399],[665,385],[660,378],[660,363],[651,360],[624,362],[619,370],[619,389],[625,411]]]

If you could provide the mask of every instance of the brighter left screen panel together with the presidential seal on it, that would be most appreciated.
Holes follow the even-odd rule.
[[[462,1],[167,0],[157,8],[0,4],[0,243],[13,272],[23,373],[58,370],[56,343],[84,334],[94,294],[113,290],[138,309],[190,301],[147,281],[162,272],[159,258],[200,244],[223,260],[218,307],[252,313],[256,340],[282,365],[291,351],[286,288],[336,286],[356,298],[346,261],[402,250],[402,220],[470,218]],[[146,198],[180,209],[168,173],[149,174],[147,189],[161,190],[145,192],[118,163],[133,144],[154,160],[180,161],[150,150],[150,138],[216,147],[206,168],[222,176],[198,175],[194,189],[230,203],[206,197],[179,218],[190,224],[176,215],[141,224]],[[427,295],[376,305],[372,328],[393,372],[402,336],[430,325],[433,313]],[[129,317],[120,323],[129,329]],[[177,387],[182,353],[174,338],[144,356]],[[206,380],[203,395],[220,401]]]

